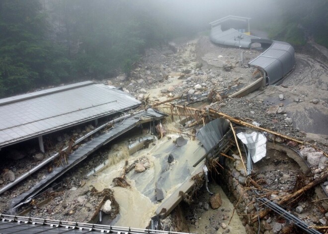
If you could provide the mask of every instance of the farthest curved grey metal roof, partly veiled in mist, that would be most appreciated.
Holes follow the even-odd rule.
[[[251,39],[257,39],[258,37],[249,36],[244,33],[237,31],[234,28],[222,31],[220,25],[213,27],[211,29],[210,40],[214,43],[227,45],[227,46],[236,46],[239,47],[239,40],[237,37],[241,36],[241,47],[250,48]]]

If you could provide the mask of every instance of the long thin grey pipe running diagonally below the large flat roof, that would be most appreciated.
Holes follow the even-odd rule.
[[[135,112],[135,113],[131,113],[131,114],[128,114],[128,115],[124,115],[124,116],[121,116],[121,117],[118,117],[116,119],[113,119],[101,126],[99,126],[98,128],[94,129],[93,131],[85,134],[84,136],[82,136],[81,138],[79,138],[77,141],[75,141],[75,143],[73,144],[73,146],[79,144],[80,142],[82,142],[84,139],[86,139],[87,137],[91,136],[92,134],[98,132],[99,130],[103,129],[104,127],[106,127],[108,124],[112,124],[112,123],[115,123],[115,122],[118,122],[120,120],[124,120],[128,117],[131,117],[133,115],[136,115],[136,114],[140,114],[144,112],[144,110],[141,110],[141,111],[138,111],[138,112]],[[68,149],[68,146],[65,147],[63,149],[63,151],[66,151]],[[38,171],[39,169],[41,169],[43,166],[45,166],[46,164],[48,164],[49,162],[51,162],[52,160],[54,160],[57,156],[59,155],[59,153],[56,153],[55,155],[47,158],[46,160],[42,161],[39,165],[35,166],[34,168],[32,168],[31,170],[25,172],[24,174],[22,174],[21,176],[19,176],[15,181],[5,185],[4,187],[2,187],[0,189],[0,194],[2,194],[3,192],[7,191],[8,189],[12,188],[13,186],[15,186],[16,184],[18,184],[19,182],[21,182],[22,180],[24,180],[26,177],[30,176],[31,174],[33,174],[34,172]]]

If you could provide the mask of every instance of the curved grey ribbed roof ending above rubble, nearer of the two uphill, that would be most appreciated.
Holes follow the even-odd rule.
[[[262,68],[267,74],[266,83],[274,84],[287,73],[289,73],[295,64],[294,48],[282,41],[271,41],[261,39],[262,43],[272,43],[272,45],[261,55],[248,63],[249,66]],[[257,42],[252,40],[252,42]]]

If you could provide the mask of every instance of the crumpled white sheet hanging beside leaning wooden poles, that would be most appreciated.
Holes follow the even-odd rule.
[[[262,133],[238,133],[237,136],[247,146],[254,163],[265,157],[266,137]]]

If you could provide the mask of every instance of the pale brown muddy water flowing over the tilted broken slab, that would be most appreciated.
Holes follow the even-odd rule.
[[[197,139],[184,137],[187,140],[186,144],[178,147],[175,144],[178,137],[177,134],[167,134],[162,139],[155,138],[147,149],[142,149],[131,156],[127,150],[128,139],[126,139],[121,141],[115,150],[108,152],[108,166],[90,176],[87,182],[99,191],[104,188],[112,189],[119,204],[119,215],[110,222],[104,219],[102,224],[134,228],[146,228],[149,225],[151,217],[156,215],[155,211],[161,205],[156,199],[156,187],[164,191],[165,200],[194,172],[195,167],[192,165],[205,154]],[[168,163],[169,154],[174,157],[171,163]],[[150,168],[140,173],[132,169],[126,174],[127,182],[131,187],[113,186],[113,178],[122,175],[125,160],[128,160],[130,165],[135,160],[145,157],[149,160]],[[225,195],[223,194],[222,197],[224,198]],[[224,203],[228,202],[228,199],[224,200]]]

